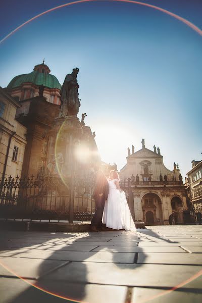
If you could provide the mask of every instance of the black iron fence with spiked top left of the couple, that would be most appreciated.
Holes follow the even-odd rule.
[[[1,218],[73,222],[94,214],[93,179],[10,176],[0,182]]]

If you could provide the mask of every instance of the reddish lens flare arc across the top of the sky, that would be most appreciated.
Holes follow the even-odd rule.
[[[33,20],[35,20],[35,19],[37,19],[37,18],[39,18],[39,17],[41,17],[41,16],[43,16],[43,15],[45,15],[47,13],[53,12],[53,11],[58,10],[58,9],[62,9],[64,7],[67,7],[67,6],[70,6],[70,5],[79,4],[79,3],[87,3],[87,2],[103,2],[103,0],[78,0],[78,1],[66,3],[66,4],[63,4],[63,5],[59,5],[57,7],[49,9],[47,11],[44,11],[43,13],[40,13],[40,14],[34,16],[33,18],[31,18],[31,19],[27,20],[26,22],[22,23],[20,26],[16,27],[16,29],[14,29],[13,31],[11,31],[7,36],[5,36],[2,40],[0,40],[0,44],[3,41],[5,41],[7,38],[9,38],[12,34],[14,34],[19,29],[21,29],[23,26],[25,26],[26,24],[30,23],[31,21],[33,21]],[[162,9],[162,8],[160,8],[158,6],[151,5],[151,4],[148,4],[148,3],[142,3],[142,2],[139,2],[139,1],[133,1],[133,0],[108,0],[108,2],[133,3],[133,4],[142,5],[142,6],[151,8],[151,9],[158,10],[158,11],[160,11],[162,13],[170,15],[171,17],[174,17],[175,19],[183,22],[184,24],[186,24],[187,26],[189,26],[191,29],[193,29],[195,32],[197,32],[200,36],[202,36],[202,30],[200,28],[198,28],[195,24],[191,23],[190,21],[188,21],[185,18],[180,17],[179,15],[176,15],[176,14],[174,14],[174,13],[168,11],[168,10]]]

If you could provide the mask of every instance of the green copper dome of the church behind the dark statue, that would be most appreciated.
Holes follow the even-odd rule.
[[[40,73],[36,70],[31,72],[30,74],[24,74],[14,77],[7,87],[12,89],[20,86],[21,83],[24,82],[31,82],[36,85],[43,84],[44,86],[49,88],[61,89],[61,84],[59,83],[58,79],[54,75],[48,73],[46,74]]]

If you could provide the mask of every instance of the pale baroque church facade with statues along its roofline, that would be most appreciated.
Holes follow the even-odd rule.
[[[127,164],[120,170],[120,180],[131,180],[136,221],[146,225],[168,225],[173,213],[178,223],[183,222],[187,209],[185,188],[178,166],[169,170],[163,163],[159,147],[142,148],[132,153],[128,148]]]

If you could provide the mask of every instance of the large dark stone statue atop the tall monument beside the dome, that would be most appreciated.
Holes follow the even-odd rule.
[[[78,68],[74,68],[71,74],[65,77],[65,81],[61,87],[61,106],[59,117],[77,116],[80,107],[80,100],[78,96],[78,82],[77,74]]]

